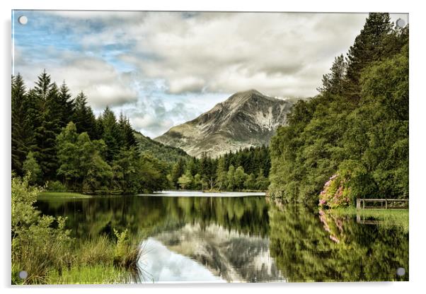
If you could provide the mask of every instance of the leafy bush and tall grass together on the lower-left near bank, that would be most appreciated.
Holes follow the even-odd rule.
[[[125,283],[138,276],[139,238],[125,230],[115,231],[115,238],[75,240],[64,218],[41,216],[35,209],[39,193],[28,177],[12,178],[13,284]],[[28,276],[19,278],[20,271]]]

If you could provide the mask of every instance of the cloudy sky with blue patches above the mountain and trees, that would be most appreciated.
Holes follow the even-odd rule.
[[[19,16],[28,23],[20,25]],[[365,13],[15,11],[13,74],[28,87],[46,69],[156,137],[232,93],[316,95]],[[392,15],[393,20],[406,16]]]

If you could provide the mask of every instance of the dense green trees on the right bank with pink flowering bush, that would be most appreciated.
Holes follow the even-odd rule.
[[[318,90],[270,142],[270,196],[329,207],[408,198],[408,25],[369,13]]]

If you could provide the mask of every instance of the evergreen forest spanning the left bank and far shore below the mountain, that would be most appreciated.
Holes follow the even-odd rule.
[[[191,158],[132,129],[109,107],[96,117],[43,71],[27,90],[12,76],[12,170],[51,191],[142,193],[161,189],[265,190],[267,147]]]

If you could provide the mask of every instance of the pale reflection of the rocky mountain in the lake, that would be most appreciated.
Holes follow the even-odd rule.
[[[188,223],[183,228],[164,231],[154,238],[172,252],[198,261],[214,276],[228,282],[284,279],[271,257],[267,237],[237,233],[216,224]]]

